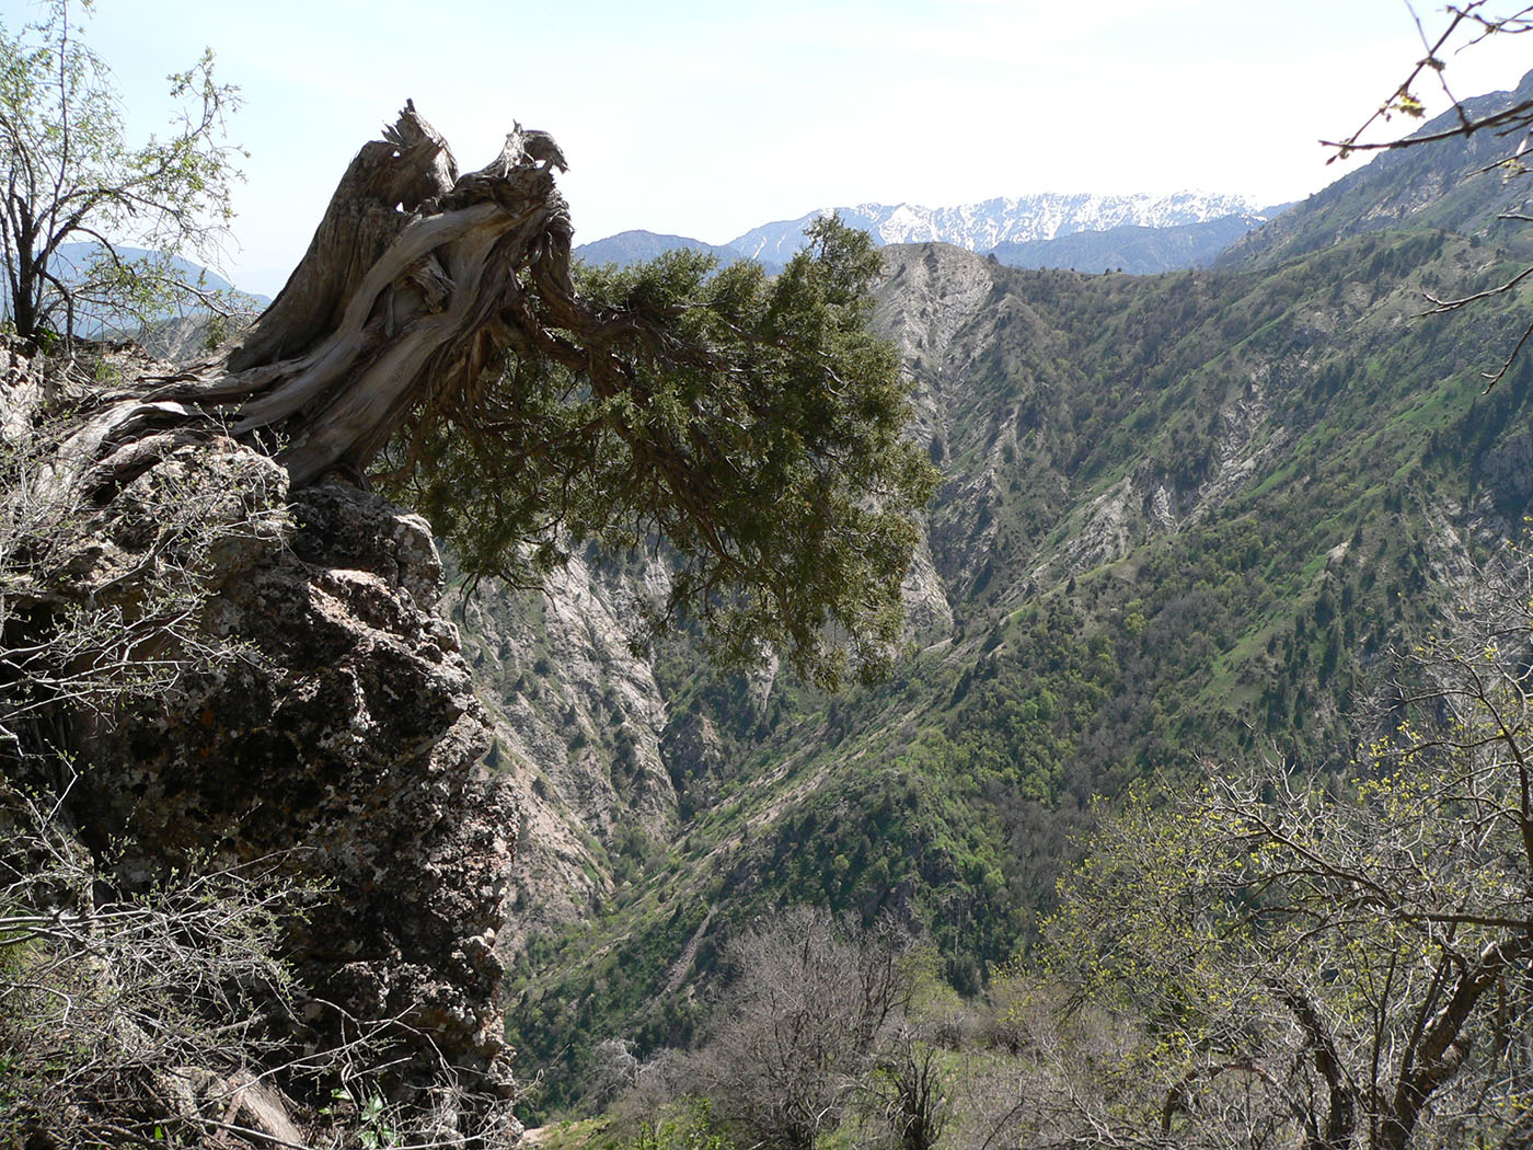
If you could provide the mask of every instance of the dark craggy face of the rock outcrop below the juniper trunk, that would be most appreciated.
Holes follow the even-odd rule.
[[[230,451],[242,451],[230,445]],[[313,1003],[305,1041],[399,1020],[400,1101],[474,1133],[506,1121],[512,1079],[495,937],[506,917],[517,805],[477,765],[491,736],[437,615],[442,564],[426,523],[325,483],[291,500],[291,529],[228,552],[205,626],[254,658],[204,675],[112,725],[81,725],[92,845],[123,849],[126,886],[196,859],[287,853],[330,883],[293,929]],[[205,865],[199,863],[199,865]],[[307,1027],[307,1032],[304,1032]]]

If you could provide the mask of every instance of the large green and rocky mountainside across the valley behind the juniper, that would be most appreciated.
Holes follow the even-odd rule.
[[[1202,270],[888,245],[875,324],[943,483],[880,685],[725,675],[687,633],[635,655],[655,555],[461,604],[492,767],[526,794],[503,945],[544,1113],[606,1038],[693,1041],[757,915],[894,915],[972,994],[1030,946],[1093,796],[1242,756],[1344,771],[1389,652],[1533,501],[1533,366],[1481,376],[1533,299],[1421,316],[1533,262],[1487,147],[1384,156]]]

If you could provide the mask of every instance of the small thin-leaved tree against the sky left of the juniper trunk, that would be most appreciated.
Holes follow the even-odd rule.
[[[210,259],[233,215],[239,152],[224,115],[238,97],[213,78],[212,52],[169,80],[179,106],[170,132],[132,146],[110,69],[80,40],[69,0],[15,35],[0,26],[0,244],[17,334],[74,336],[86,320],[121,325],[213,301],[178,258]]]

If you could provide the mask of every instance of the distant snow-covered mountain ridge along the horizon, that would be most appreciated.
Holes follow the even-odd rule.
[[[840,213],[852,227],[866,228],[878,244],[940,241],[970,251],[989,251],[1000,244],[1053,239],[1075,232],[1105,232],[1122,225],[1171,227],[1223,216],[1256,216],[1260,205],[1245,196],[1210,192],[1174,192],[1168,196],[1044,192],[1032,196],[996,196],[957,207],[857,204],[820,209],[799,219],[751,228],[731,239],[730,247],[751,259],[786,262],[803,245],[803,228],[831,212]]]

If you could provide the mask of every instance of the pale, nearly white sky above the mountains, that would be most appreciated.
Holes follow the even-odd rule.
[[[8,29],[37,15],[0,0]],[[245,107],[227,270],[274,293],[337,176],[406,97],[480,167],[512,118],[558,138],[576,242],[625,228],[724,242],[854,202],[1026,192],[1302,198],[1321,136],[1416,60],[1403,0],[98,0],[86,38],[135,132],[204,46]],[[1432,29],[1439,8],[1418,5]],[[1455,61],[1512,87],[1533,38]],[[1420,95],[1432,95],[1421,92]],[[1441,106],[1441,98],[1433,110]]]

